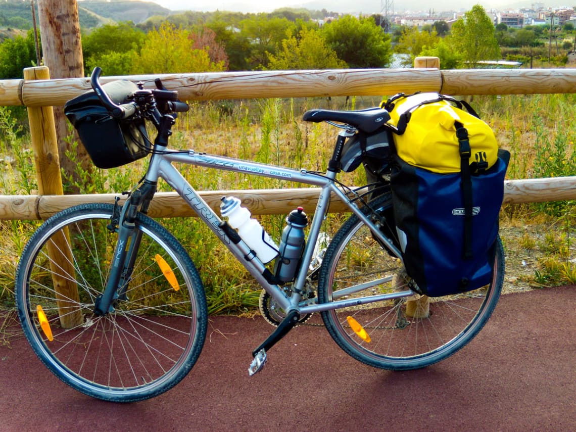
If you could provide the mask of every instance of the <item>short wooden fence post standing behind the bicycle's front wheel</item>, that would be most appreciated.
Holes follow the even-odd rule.
[[[50,71],[46,66],[28,67],[24,69],[24,79],[27,81],[50,79]],[[63,195],[52,107],[29,107],[28,122],[36,163],[38,193],[39,195]],[[78,306],[78,287],[71,282],[74,277],[70,276],[73,276],[75,272],[69,245],[67,232],[62,232],[60,238],[51,238],[47,245],[52,268],[52,282],[58,300],[60,324],[64,328],[72,328],[82,324],[84,320]],[[59,276],[63,274],[68,277]]]

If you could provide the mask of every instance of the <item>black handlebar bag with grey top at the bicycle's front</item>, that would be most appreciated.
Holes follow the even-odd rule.
[[[116,104],[126,103],[138,89],[131,81],[113,81],[103,88]],[[144,120],[112,118],[93,90],[67,101],[64,113],[98,168],[126,165],[149,153]]]

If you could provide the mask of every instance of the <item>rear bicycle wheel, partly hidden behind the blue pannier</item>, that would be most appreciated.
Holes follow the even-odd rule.
[[[369,207],[380,215],[391,206],[389,193],[369,203]],[[363,212],[369,214],[370,211],[365,207]],[[393,226],[387,228],[388,233],[395,233]],[[429,306],[426,306],[426,298],[415,295],[396,301],[327,310],[322,313],[325,327],[347,354],[367,365],[408,370],[437,363],[470,342],[490,318],[503,283],[504,260],[499,238],[495,255],[490,285],[468,293],[429,298]],[[319,277],[319,302],[336,300],[338,290],[342,288],[386,276],[386,283],[343,298],[406,290],[408,279],[405,275],[401,260],[374,240],[367,226],[352,215],[336,233],[324,256]],[[348,316],[355,322],[348,321]],[[356,324],[366,333],[355,332],[352,326]]]

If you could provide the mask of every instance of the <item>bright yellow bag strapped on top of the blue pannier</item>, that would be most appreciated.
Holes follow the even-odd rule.
[[[471,172],[488,169],[498,159],[494,132],[464,101],[438,93],[398,94],[382,104],[391,116],[398,156],[436,173],[461,171],[456,130],[468,131]]]

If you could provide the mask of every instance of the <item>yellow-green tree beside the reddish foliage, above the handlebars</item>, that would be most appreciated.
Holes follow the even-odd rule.
[[[206,50],[194,48],[190,33],[164,22],[146,35],[134,73],[166,74],[223,70],[223,62],[214,63]]]

